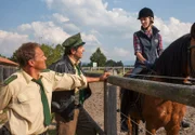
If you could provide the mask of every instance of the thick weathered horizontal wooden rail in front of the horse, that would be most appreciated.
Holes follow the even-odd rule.
[[[108,77],[107,82],[146,95],[195,107],[195,85],[172,84],[116,76]]]

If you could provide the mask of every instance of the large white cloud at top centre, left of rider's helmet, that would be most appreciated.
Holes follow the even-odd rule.
[[[49,8],[67,16],[73,24],[82,29],[94,28],[104,35],[122,36],[139,28],[136,19],[122,9],[107,10],[102,0],[46,0]],[[131,26],[136,27],[131,27]],[[122,26],[122,27],[121,27]]]

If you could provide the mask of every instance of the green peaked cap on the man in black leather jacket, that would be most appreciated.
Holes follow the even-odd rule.
[[[63,46],[64,48],[75,48],[75,46],[79,46],[79,45],[83,45],[86,42],[82,41],[81,37],[80,37],[80,32],[77,35],[74,35],[69,38],[67,38],[64,42],[63,42]]]

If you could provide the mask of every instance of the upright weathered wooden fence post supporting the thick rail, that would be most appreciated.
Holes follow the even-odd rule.
[[[104,83],[104,132],[117,135],[117,86]]]

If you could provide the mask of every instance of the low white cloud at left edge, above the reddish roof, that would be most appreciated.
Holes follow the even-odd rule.
[[[27,35],[0,30],[0,54],[12,56],[13,52],[27,41],[29,41]]]

